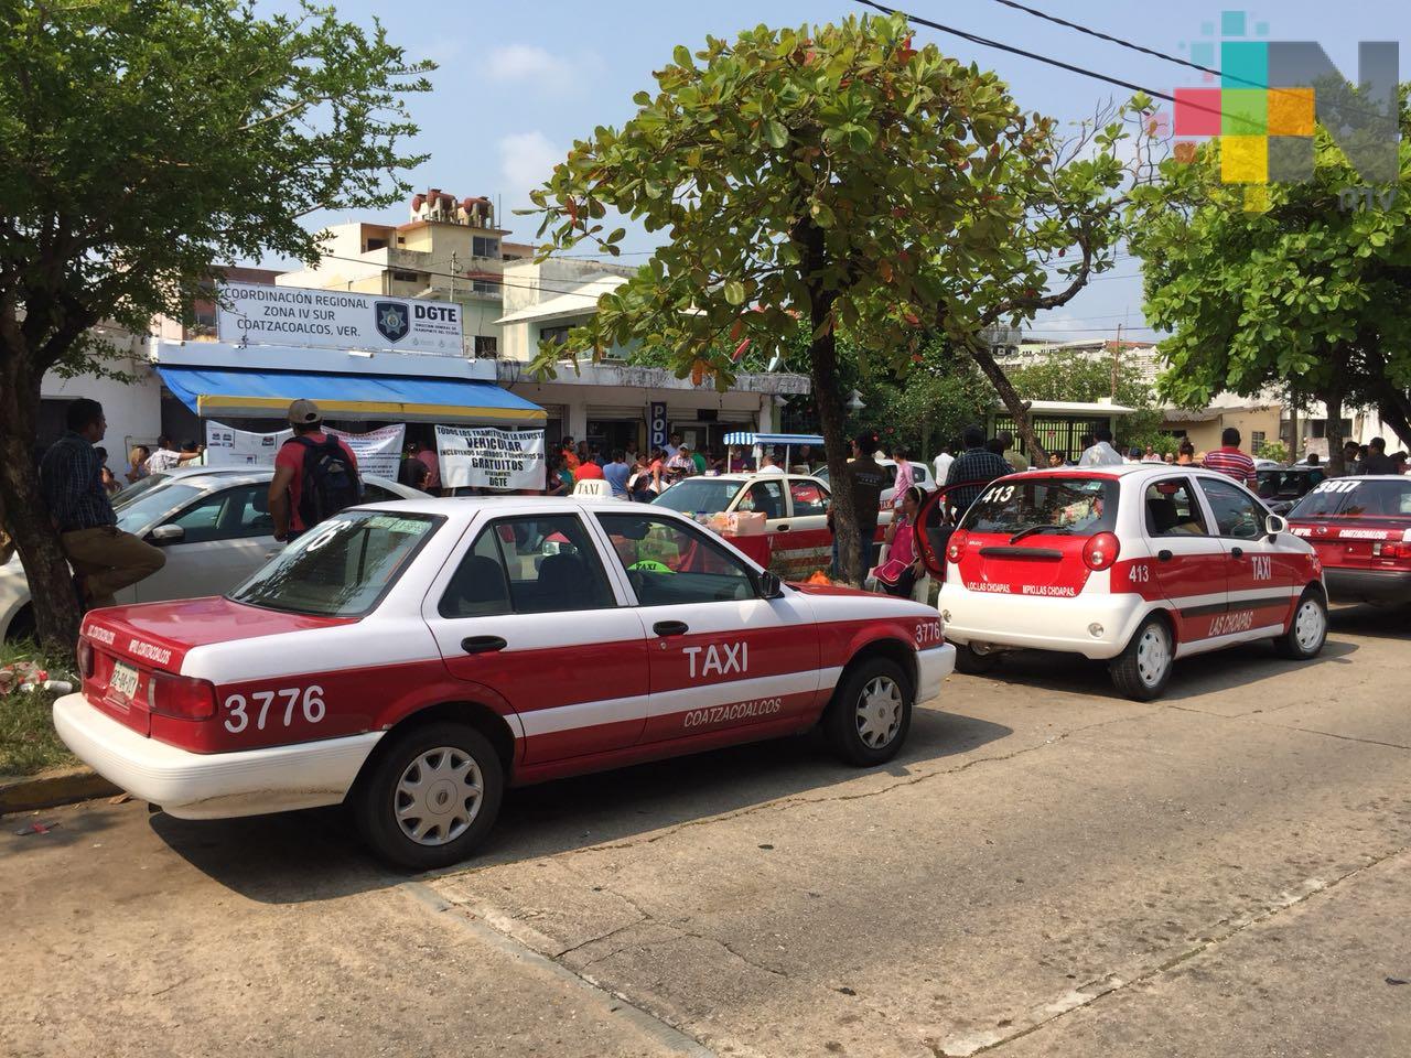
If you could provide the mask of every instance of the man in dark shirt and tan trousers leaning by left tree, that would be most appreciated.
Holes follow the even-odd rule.
[[[68,430],[40,461],[40,492],[73,567],[79,607],[114,605],[113,594],[166,564],[159,547],[117,528],[95,444],[107,432],[103,405],[80,396],[65,412]]]

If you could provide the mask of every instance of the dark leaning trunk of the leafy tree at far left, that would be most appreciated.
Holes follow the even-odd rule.
[[[0,505],[30,581],[38,638],[52,649],[72,650],[79,635],[78,598],[34,464],[41,379],[28,350],[0,348]]]

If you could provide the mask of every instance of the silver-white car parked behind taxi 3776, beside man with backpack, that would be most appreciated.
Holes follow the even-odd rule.
[[[230,591],[272,557],[274,519],[267,467],[193,467],[152,474],[114,497],[117,526],[166,553],[166,566],[117,594],[119,602],[154,602]],[[367,502],[425,495],[364,475]],[[30,581],[20,556],[0,567],[0,642],[34,635]]]

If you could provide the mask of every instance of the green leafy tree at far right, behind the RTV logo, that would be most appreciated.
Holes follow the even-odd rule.
[[[1404,182],[1411,174],[1405,89],[1400,128]],[[1343,471],[1345,406],[1379,405],[1411,446],[1411,197],[1404,189],[1366,188],[1318,126],[1312,179],[1270,185],[1267,210],[1243,209],[1243,186],[1221,182],[1216,140],[1187,161],[1163,164],[1160,182],[1134,193],[1133,221],[1146,317],[1175,332],[1160,343],[1167,396],[1204,408],[1222,391],[1297,387],[1326,405],[1335,474]]]

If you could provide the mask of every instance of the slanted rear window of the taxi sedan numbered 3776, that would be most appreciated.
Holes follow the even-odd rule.
[[[363,616],[442,523],[433,515],[344,511],[320,522],[230,592],[236,602]]]

